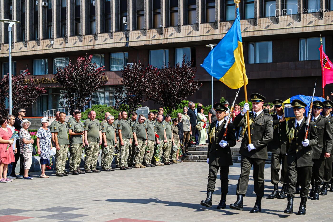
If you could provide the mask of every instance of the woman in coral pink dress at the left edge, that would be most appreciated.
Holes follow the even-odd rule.
[[[15,162],[14,152],[13,152],[13,141],[10,140],[12,137],[12,131],[7,128],[7,119],[1,117],[0,119],[0,183],[12,182],[11,179],[7,178],[8,164]],[[9,147],[8,147],[9,145]],[[7,149],[8,147],[8,149]]]

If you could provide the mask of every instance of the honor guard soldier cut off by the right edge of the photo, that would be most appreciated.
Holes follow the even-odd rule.
[[[325,100],[324,102],[324,108],[323,108],[323,116],[328,118],[331,122],[331,128],[333,130],[333,116],[331,116],[333,102],[330,100]],[[331,150],[332,152],[332,150]],[[324,166],[324,185],[321,189],[320,195],[327,195],[327,189],[329,186],[330,181],[332,180],[332,164],[333,164],[333,156],[327,157],[325,160],[325,166]],[[331,182],[331,189],[330,191],[333,191],[333,186]]]

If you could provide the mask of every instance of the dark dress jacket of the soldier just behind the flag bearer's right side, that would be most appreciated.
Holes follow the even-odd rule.
[[[267,144],[267,150],[268,152],[276,154],[286,154],[287,139],[288,139],[286,133],[286,121],[280,122],[276,114],[272,115],[272,118],[273,118],[273,140]]]

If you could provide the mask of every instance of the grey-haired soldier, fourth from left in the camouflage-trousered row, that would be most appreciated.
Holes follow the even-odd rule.
[[[109,115],[107,117],[107,122],[102,126],[102,136],[103,136],[103,149],[102,153],[104,154],[104,171],[114,171],[111,167],[111,163],[113,160],[113,154],[115,152],[116,147],[116,130],[113,125],[115,120],[114,116]]]

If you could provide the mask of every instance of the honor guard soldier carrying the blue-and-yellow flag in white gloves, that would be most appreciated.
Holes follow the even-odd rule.
[[[231,209],[243,210],[243,197],[246,194],[249,175],[253,165],[254,192],[257,195],[251,213],[261,211],[261,198],[264,196],[264,168],[268,158],[267,144],[273,139],[273,119],[262,110],[264,96],[258,93],[251,94],[252,112],[249,113],[251,143],[248,139],[247,120],[245,113],[249,111],[248,103],[245,103],[243,111],[238,114],[233,124],[244,126],[244,137],[240,146],[241,154],[240,176],[237,184],[237,201],[230,204]],[[244,118],[245,117],[245,118]]]

